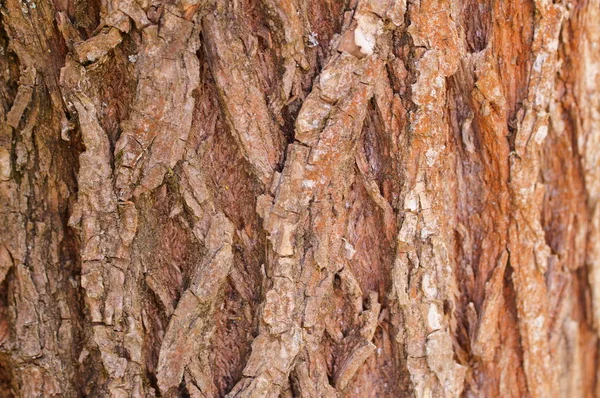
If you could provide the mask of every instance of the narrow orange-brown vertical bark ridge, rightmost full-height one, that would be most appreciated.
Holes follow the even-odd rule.
[[[518,156],[513,156],[510,164],[513,210],[508,247],[527,385],[533,396],[542,397],[552,395],[558,386],[546,332],[549,315],[544,274],[550,249],[540,220],[545,187],[538,182],[538,175],[541,145],[548,133],[547,110],[552,100],[564,9],[542,0],[536,1],[535,7],[541,18],[534,28],[527,102],[521,110],[523,118],[515,137]]]

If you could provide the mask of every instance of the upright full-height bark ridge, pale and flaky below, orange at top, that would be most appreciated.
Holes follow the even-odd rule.
[[[394,290],[404,314],[405,332],[397,340],[407,353],[407,368],[417,397],[457,397],[463,390],[466,367],[454,360],[452,330],[443,314],[443,303],[456,295],[449,250],[454,247],[454,198],[445,194],[453,175],[448,158],[450,131],[436,120],[446,106],[446,78],[456,72],[464,44],[454,21],[453,2],[410,4],[408,34],[423,47],[415,60],[418,73],[412,85],[410,113],[413,142],[404,177],[404,211],[397,238],[397,258],[392,271]],[[432,31],[431,21],[440,28]],[[427,183],[425,183],[427,181]],[[449,218],[446,218],[448,217]],[[404,336],[404,340],[401,336]]]

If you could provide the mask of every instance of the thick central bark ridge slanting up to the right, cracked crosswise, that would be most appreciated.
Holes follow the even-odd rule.
[[[369,2],[361,2],[361,12],[356,17],[368,12],[369,5]],[[368,33],[372,35],[369,38],[373,40],[373,46],[381,33],[377,29]],[[278,395],[279,386],[287,379],[294,359],[305,344],[298,315],[312,307],[304,309],[307,306],[303,297],[305,287],[299,278],[303,267],[313,266],[301,249],[303,231],[307,228],[305,220],[310,214],[311,203],[324,200],[327,187],[341,177],[336,170],[354,160],[356,141],[373,95],[372,85],[382,70],[380,62],[377,56],[362,59],[348,53],[334,56],[300,111],[296,139],[306,145],[294,143],[289,146],[273,203],[269,205],[265,198],[261,202],[263,208],[258,209],[259,214],[265,216],[265,228],[274,254],[270,267],[272,287],[263,304],[261,332],[253,343],[244,370],[248,378],[240,381],[229,396]],[[316,129],[300,126],[315,126]],[[322,130],[319,126],[323,126]],[[304,132],[311,138],[303,136]],[[326,231],[316,229],[314,233],[320,235]],[[341,246],[341,237],[331,240],[333,238],[320,236],[323,242],[329,242],[329,247]],[[315,253],[315,266],[332,272],[334,264],[329,264],[324,256],[328,256],[326,244]],[[311,284],[306,286],[307,291],[312,289],[315,288]],[[328,289],[331,287],[326,287],[325,292]],[[322,297],[326,296],[325,292]],[[283,349],[285,356],[267,363],[269,351]],[[350,368],[358,362],[353,361]]]

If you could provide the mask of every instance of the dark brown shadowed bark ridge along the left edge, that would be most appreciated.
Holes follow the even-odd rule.
[[[6,1],[0,17],[0,391],[57,396],[76,385],[76,321],[68,319],[76,255],[62,250],[72,180],[61,171],[74,166],[60,163],[54,140],[63,109],[60,57],[48,53],[60,39],[52,5],[34,13],[24,7]]]

